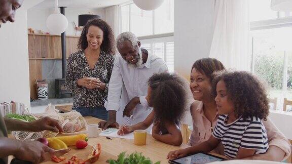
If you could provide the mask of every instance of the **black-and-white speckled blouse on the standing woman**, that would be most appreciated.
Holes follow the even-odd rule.
[[[72,53],[67,60],[67,72],[65,88],[74,93],[74,103],[72,108],[77,107],[98,107],[104,106],[107,100],[108,83],[111,78],[115,56],[101,51],[94,69],[87,63],[84,50]],[[78,87],[77,80],[83,77],[97,77],[105,83],[105,90],[87,89]]]

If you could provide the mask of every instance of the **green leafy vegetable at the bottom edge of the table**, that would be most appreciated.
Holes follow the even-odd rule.
[[[150,158],[145,157],[142,153],[132,153],[126,156],[126,152],[122,152],[119,154],[118,159],[108,159],[107,162],[109,164],[153,164]],[[155,162],[154,164],[160,164],[160,161]]]

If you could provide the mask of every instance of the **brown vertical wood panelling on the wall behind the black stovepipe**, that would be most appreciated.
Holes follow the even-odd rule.
[[[66,36],[66,58],[77,51],[78,39],[76,36]],[[28,34],[28,58],[30,97],[37,99],[35,80],[43,79],[43,60],[62,59],[61,36]]]

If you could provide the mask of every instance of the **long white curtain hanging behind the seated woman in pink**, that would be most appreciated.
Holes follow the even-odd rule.
[[[250,71],[249,0],[215,0],[210,57],[228,69]]]

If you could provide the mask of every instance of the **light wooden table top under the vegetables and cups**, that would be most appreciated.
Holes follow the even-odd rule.
[[[88,124],[98,124],[101,119],[87,116],[85,117]],[[142,152],[142,154],[145,157],[149,157],[153,162],[161,161],[161,163],[168,163],[168,159],[166,159],[166,156],[169,151],[176,150],[176,149],[182,149],[188,147],[187,145],[181,145],[181,146],[172,146],[165,143],[162,143],[160,141],[155,140],[150,134],[147,135],[147,143],[143,146],[136,146],[134,145],[134,140],[131,139],[122,139],[122,138],[112,138],[112,140],[106,139],[106,137],[96,137],[96,138],[89,138],[88,145],[94,145],[96,143],[101,144],[101,155],[97,161],[97,163],[105,163],[105,161],[109,158],[117,159],[117,156],[123,152],[127,151],[127,153],[133,153],[135,151]],[[80,158],[86,157],[89,154],[89,149],[87,146],[87,149],[83,150],[76,150],[74,147],[72,147],[72,150],[69,152],[68,156],[72,156],[76,154]],[[222,155],[214,154],[220,157],[223,157]],[[67,159],[66,155],[64,156]],[[45,162],[45,163],[54,163],[52,161]]]

